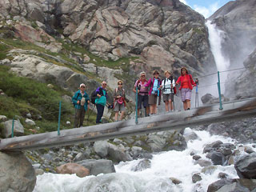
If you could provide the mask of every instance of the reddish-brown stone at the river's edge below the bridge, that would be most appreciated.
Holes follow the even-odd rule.
[[[86,169],[77,163],[66,163],[56,168],[58,174],[76,174],[79,178],[84,178],[90,175],[90,170]]]

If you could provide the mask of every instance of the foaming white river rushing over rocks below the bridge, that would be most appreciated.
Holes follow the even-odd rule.
[[[186,131],[191,130],[186,128]],[[210,136],[206,131],[194,132],[199,138],[188,142],[186,150],[170,150],[154,154],[149,169],[132,171],[141,161],[134,160],[119,163],[115,166],[117,173],[114,174],[100,174],[86,178],[78,178],[75,174],[43,174],[38,176],[34,192],[189,192],[198,185],[200,185],[198,191],[207,191],[210,183],[218,180],[220,172],[225,172],[230,178],[238,178],[234,166],[216,166],[217,169],[212,174],[201,173],[202,167],[194,164],[191,151],[200,155],[202,159],[207,159],[206,154],[202,154],[206,144],[217,140],[224,143],[234,143],[234,141],[230,138]],[[196,184],[191,179],[195,173],[201,173],[202,176],[202,181]],[[178,178],[182,183],[174,185],[170,177]]]

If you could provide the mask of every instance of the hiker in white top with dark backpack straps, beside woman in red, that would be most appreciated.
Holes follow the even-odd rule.
[[[162,92],[162,100],[166,104],[166,112],[174,110],[173,102],[174,102],[174,87],[175,80],[171,75],[169,70],[165,71],[165,79],[162,81],[162,85],[160,86],[163,90]]]

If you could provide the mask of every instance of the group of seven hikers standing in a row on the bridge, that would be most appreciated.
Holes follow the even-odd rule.
[[[138,114],[142,110],[142,105],[146,109],[146,116],[157,114],[157,104],[160,105],[161,95],[163,102],[165,102],[166,112],[174,110],[174,94],[176,94],[176,86],[179,86],[181,91],[181,98],[183,102],[183,109],[190,110],[191,94],[194,86],[197,86],[194,82],[192,75],[188,73],[186,67],[181,68],[181,75],[175,82],[173,74],[169,70],[166,70],[165,78],[159,78],[158,70],[154,70],[153,77],[146,80],[146,73],[141,72],[139,79],[134,84],[134,93],[138,93]],[[118,81],[118,87],[114,90],[113,98],[113,109],[114,109],[114,120],[118,121],[118,114],[121,113],[120,119],[124,118],[126,110],[126,102],[131,102],[126,98],[125,90],[122,88],[123,82]],[[86,85],[82,83],[79,86],[79,90],[75,92],[72,102],[75,108],[74,115],[74,127],[82,126],[85,118],[86,110],[88,105],[92,102],[97,108],[96,123],[102,122],[102,115],[104,107],[110,104],[107,101],[108,94],[106,92],[106,82],[102,82],[101,86],[94,91],[91,95],[91,99],[86,94]],[[158,103],[157,103],[158,102]]]

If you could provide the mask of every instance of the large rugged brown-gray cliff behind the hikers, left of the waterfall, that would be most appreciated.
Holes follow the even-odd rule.
[[[131,74],[214,68],[205,19],[178,0],[6,0],[0,13],[16,20],[15,37],[54,52],[62,51],[61,38],[106,60],[136,56]]]

